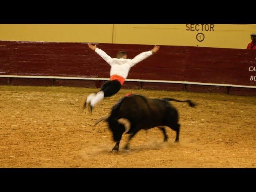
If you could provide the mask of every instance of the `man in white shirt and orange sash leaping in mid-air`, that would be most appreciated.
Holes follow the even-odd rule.
[[[110,80],[108,80],[101,88],[99,92],[90,94],[87,98],[84,98],[80,104],[80,110],[83,110],[88,104],[90,112],[92,108],[100,102],[104,97],[109,97],[116,94],[124,84],[125,79],[128,76],[130,68],[136,65],[138,62],[148,58],[152,54],[158,52],[160,46],[155,45],[150,51],[142,52],[135,56],[133,59],[127,59],[125,51],[119,51],[116,58],[111,58],[101,49],[97,48],[96,44],[88,44],[91,50],[94,50],[99,56],[101,56],[108,64],[110,64]]]

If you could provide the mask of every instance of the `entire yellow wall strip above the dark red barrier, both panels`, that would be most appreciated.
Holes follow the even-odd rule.
[[[0,40],[246,49],[256,24],[0,24]]]

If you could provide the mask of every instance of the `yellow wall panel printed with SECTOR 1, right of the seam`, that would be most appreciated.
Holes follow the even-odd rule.
[[[118,24],[114,43],[246,49],[256,24]]]

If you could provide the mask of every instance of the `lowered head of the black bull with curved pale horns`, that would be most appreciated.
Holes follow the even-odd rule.
[[[109,116],[102,116],[95,122],[94,126],[96,126],[96,124],[98,124],[101,121],[108,122],[109,128],[113,133],[115,141],[120,141],[122,134],[127,133],[131,128],[131,124],[128,119],[120,118],[116,121],[112,120],[112,118],[109,118]]]

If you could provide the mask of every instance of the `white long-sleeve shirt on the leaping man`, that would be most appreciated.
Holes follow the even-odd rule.
[[[141,62],[142,60],[148,58],[153,54],[151,51],[146,51],[138,54],[133,59],[117,59],[111,58],[110,56],[108,56],[108,54],[106,54],[106,52],[102,51],[99,48],[96,48],[95,52],[99,56],[101,56],[108,64],[110,64],[110,76],[118,75],[123,77],[124,79],[127,78],[130,68],[132,66],[136,65],[138,62]]]

